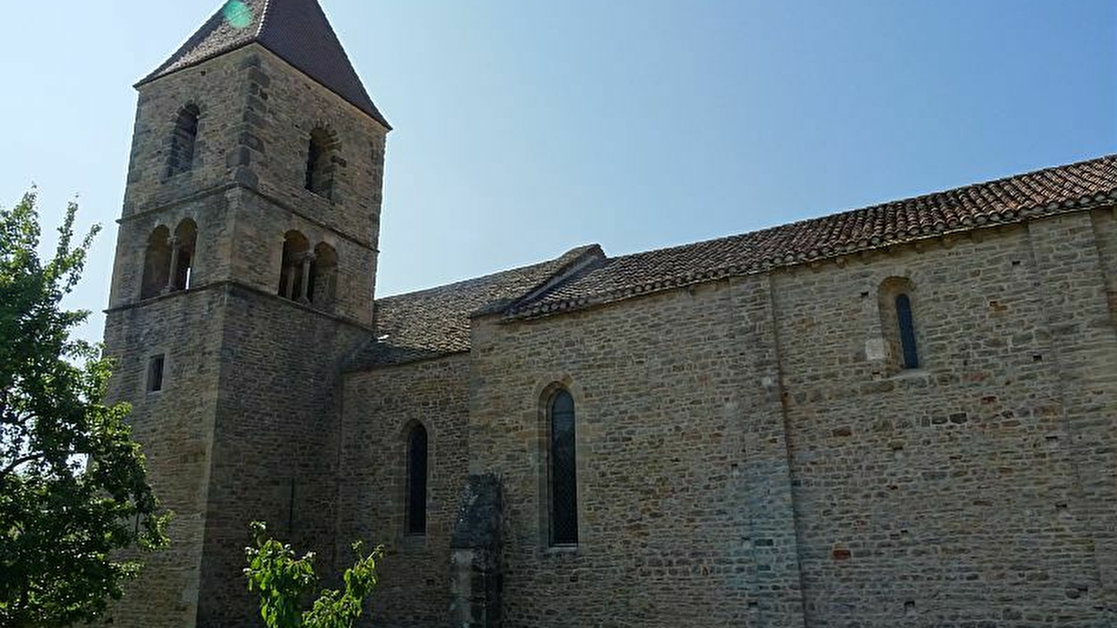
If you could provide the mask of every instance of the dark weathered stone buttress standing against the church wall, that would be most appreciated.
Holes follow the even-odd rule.
[[[450,542],[450,627],[499,628],[504,498],[493,474],[471,475]]]

